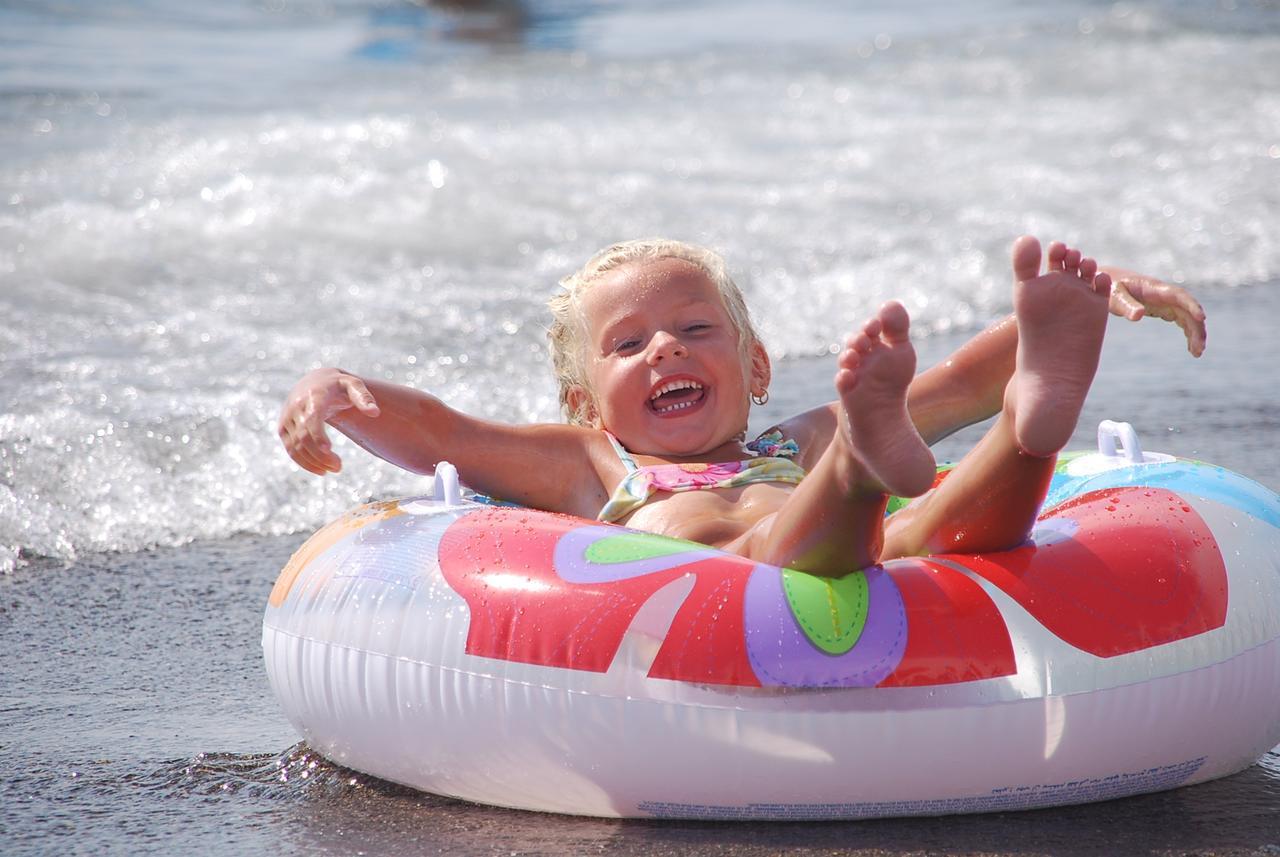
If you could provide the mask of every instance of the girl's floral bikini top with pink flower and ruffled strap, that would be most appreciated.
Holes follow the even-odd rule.
[[[741,462],[713,462],[710,464],[649,464],[641,467],[618,439],[604,432],[627,468],[627,475],[613,490],[613,496],[600,509],[598,521],[617,521],[639,509],[654,491],[703,491],[732,489],[751,482],[791,482],[804,478],[804,468],[791,460],[800,453],[794,440],[782,440],[781,431],[760,435],[746,448],[756,454]]]

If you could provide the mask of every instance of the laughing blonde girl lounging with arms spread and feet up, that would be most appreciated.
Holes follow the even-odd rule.
[[[769,358],[710,251],[616,244],[562,281],[552,353],[568,425],[509,426],[335,368],[289,393],[279,434],[312,473],[340,468],[325,425],[415,472],[453,462],[472,487],[524,505],[687,539],[815,574],[1021,542],[1075,428],[1108,304],[1178,322],[1203,349],[1184,290],[1034,238],[1014,244],[1014,316],[915,376],[906,310],[884,304],[837,357],[837,400],[746,443]],[[928,445],[997,420],[936,489]],[[888,495],[916,496],[884,518]],[[923,495],[923,496],[922,496]]]

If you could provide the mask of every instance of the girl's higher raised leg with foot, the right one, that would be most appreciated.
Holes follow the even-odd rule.
[[[996,423],[942,485],[890,519],[884,558],[1004,550],[1030,532],[1097,371],[1110,290],[1078,251],[1051,246],[1043,276],[1039,260],[1034,238],[1014,244],[1018,357]]]

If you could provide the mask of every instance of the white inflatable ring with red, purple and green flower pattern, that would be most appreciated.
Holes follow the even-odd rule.
[[[365,507],[280,574],[268,674],[337,764],[548,812],[942,815],[1224,776],[1280,742],[1280,498],[1126,453],[1064,455],[1024,546],[838,579],[522,508]]]

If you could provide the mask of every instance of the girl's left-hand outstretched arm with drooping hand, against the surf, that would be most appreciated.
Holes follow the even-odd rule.
[[[479,420],[412,388],[321,368],[293,386],[279,423],[289,457],[320,476],[342,468],[326,426],[416,473],[429,473],[448,459],[467,485],[524,505],[575,514],[589,510],[586,517],[594,517],[603,504],[594,466],[599,432]]]

